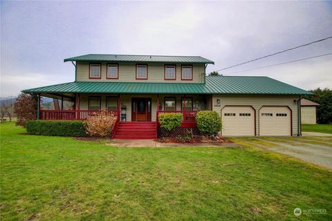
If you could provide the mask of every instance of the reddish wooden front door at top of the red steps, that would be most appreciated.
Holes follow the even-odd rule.
[[[151,122],[151,98],[131,99],[131,121]]]

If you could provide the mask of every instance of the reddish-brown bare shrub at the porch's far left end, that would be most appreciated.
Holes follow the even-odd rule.
[[[21,94],[14,104],[14,113],[17,115],[16,125],[26,126],[28,120],[37,119],[37,96]]]

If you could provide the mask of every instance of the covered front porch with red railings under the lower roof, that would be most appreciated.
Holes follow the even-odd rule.
[[[53,97],[61,104],[55,110],[40,105],[39,119],[89,119],[99,111],[109,111],[120,122],[158,122],[160,113],[183,113],[181,126],[196,126],[197,111],[211,110],[211,95],[147,95],[147,94],[39,94]],[[73,102],[65,110],[63,101]]]

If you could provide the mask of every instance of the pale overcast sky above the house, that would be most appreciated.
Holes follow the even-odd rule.
[[[63,59],[77,55],[200,55],[210,72],[329,36],[331,1],[1,1],[1,97],[74,81]],[[332,39],[221,73],[332,88],[332,55],[250,70],[329,52]]]

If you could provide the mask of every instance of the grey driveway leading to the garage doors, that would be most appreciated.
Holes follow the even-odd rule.
[[[332,170],[332,137],[241,137],[237,140]]]

